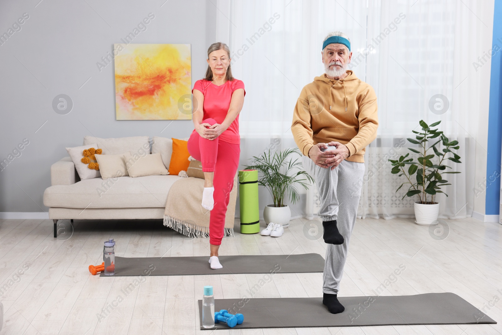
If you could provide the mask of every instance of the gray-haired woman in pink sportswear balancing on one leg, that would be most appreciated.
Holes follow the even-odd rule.
[[[213,43],[207,50],[207,71],[192,89],[195,129],[188,151],[202,162],[204,191],[202,207],[211,210],[209,219],[209,263],[222,268],[218,249],[223,238],[225,213],[239,165],[240,135],[238,115],[244,103],[244,83],[232,77],[230,50]]]

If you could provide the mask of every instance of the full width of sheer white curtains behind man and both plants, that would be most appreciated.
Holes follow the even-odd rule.
[[[351,40],[350,68],[373,86],[379,104],[378,138],[366,150],[358,216],[413,215],[416,199],[401,200],[402,194],[395,193],[401,179],[390,173],[387,159],[409,152],[406,138],[413,137],[412,130],[422,119],[427,123],[441,120],[439,128],[460,144],[462,164],[448,162],[462,173],[445,175],[453,185],[445,188],[449,197],[436,199],[441,203],[440,213],[470,215],[472,157],[477,145],[477,118],[472,112],[478,106],[479,92],[468,67],[480,52],[476,40],[480,30],[488,31],[473,13],[489,11],[485,8],[489,5],[456,0],[218,0],[214,5],[215,41],[228,44],[233,75],[246,87],[239,117],[239,169],[269,148],[296,147],[290,131],[294,105],[302,87],[324,72],[324,36],[340,30]],[[438,115],[429,109],[435,94],[447,97],[446,113]],[[299,191],[306,194],[306,200],[286,201],[292,216],[312,218],[318,211],[316,187]],[[260,208],[270,203],[270,194],[261,188]]]

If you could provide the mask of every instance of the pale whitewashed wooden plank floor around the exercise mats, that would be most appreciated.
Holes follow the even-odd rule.
[[[65,221],[54,239],[50,220],[2,220],[0,334],[211,335],[213,330],[199,330],[196,303],[202,287],[213,285],[217,299],[242,298],[263,277],[149,276],[142,283],[137,277],[99,278],[87,267],[101,264],[105,239],[114,238],[116,255],[124,257],[204,256],[209,255],[209,240],[183,237],[161,220],[75,220],[73,228]],[[385,284],[382,295],[453,292],[484,308],[498,324],[269,328],[216,334],[502,334],[502,226],[472,218],[445,221],[447,238],[435,240],[428,227],[412,219],[358,219],[339,296],[375,295],[373,290],[388,279],[393,283]],[[223,239],[220,255],[314,252],[324,257],[326,245],[322,238],[307,239],[305,222],[292,220],[280,238],[236,233]],[[400,264],[406,269],[393,277]],[[132,292],[124,294],[131,284]],[[320,296],[322,273],[274,274],[255,295]]]

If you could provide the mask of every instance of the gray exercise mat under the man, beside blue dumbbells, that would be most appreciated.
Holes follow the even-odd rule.
[[[233,329],[497,323],[451,292],[339,297],[338,301],[345,307],[338,314],[331,314],[322,298],[215,299],[214,310],[244,315],[244,322]],[[202,327],[202,300],[199,315],[201,330],[228,329],[225,323]]]

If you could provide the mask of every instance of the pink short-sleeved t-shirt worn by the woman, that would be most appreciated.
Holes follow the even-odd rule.
[[[228,108],[230,107],[232,94],[238,88],[244,89],[244,83],[238,79],[233,79],[231,81],[227,80],[220,86],[213,84],[209,80],[197,80],[193,85],[192,93],[194,89],[197,89],[204,94],[204,106],[202,108],[204,116],[202,120],[211,118],[219,124],[223,123],[228,113]],[[246,92],[244,90],[244,95],[245,94]],[[195,132],[195,129],[193,132]],[[238,114],[230,126],[218,137],[220,140],[228,143],[240,144]]]

